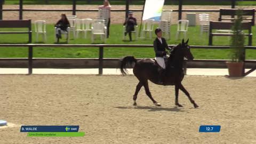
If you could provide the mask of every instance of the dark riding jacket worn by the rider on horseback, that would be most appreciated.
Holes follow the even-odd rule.
[[[159,41],[158,38],[155,39],[154,41],[154,50],[156,53],[156,57],[164,57],[165,53],[165,49],[169,50],[169,47],[165,41],[165,38],[161,38],[162,39],[162,43]]]

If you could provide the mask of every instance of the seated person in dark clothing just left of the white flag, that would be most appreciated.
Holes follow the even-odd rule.
[[[133,12],[129,11],[129,16],[124,22],[124,26],[126,26],[125,36],[127,33],[129,34],[130,41],[132,41],[132,31],[134,31],[134,26],[137,26],[137,19],[133,17]]]

